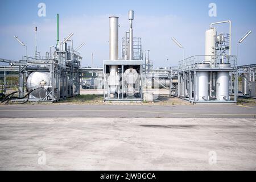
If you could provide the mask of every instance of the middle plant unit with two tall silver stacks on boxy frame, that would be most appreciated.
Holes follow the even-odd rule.
[[[109,17],[109,60],[104,60],[104,101],[142,101],[143,61],[134,56],[134,12],[129,11],[129,39],[123,38],[122,59],[118,58],[118,17]],[[141,39],[138,39],[141,41]],[[140,42],[141,43],[141,42]],[[141,52],[141,44],[138,44]],[[139,58],[140,55],[138,55]]]

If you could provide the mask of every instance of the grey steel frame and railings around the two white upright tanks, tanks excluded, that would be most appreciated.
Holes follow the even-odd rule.
[[[208,58],[207,58],[208,57]],[[209,67],[202,67],[204,63],[211,63],[212,56],[192,56],[185,60],[179,61],[179,66],[172,69],[171,79],[176,79],[178,84],[171,83],[171,94],[177,97],[187,100],[192,103],[196,102],[237,102],[237,90],[238,90],[238,72],[237,72],[237,57],[236,56],[216,56],[214,57],[215,63],[209,64]],[[176,72],[177,71],[177,72]],[[229,96],[234,96],[233,100],[217,101],[216,98],[210,97],[209,100],[199,100],[196,98],[198,89],[197,73],[208,72],[211,77],[208,82],[210,84],[208,93],[216,94],[216,81],[214,81],[214,73],[229,72]],[[214,88],[211,88],[213,85]],[[211,93],[212,92],[212,93]]]

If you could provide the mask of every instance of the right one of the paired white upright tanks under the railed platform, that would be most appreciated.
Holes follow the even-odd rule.
[[[230,64],[220,64],[220,68],[230,68]],[[229,101],[229,72],[217,72],[216,97],[218,101]]]

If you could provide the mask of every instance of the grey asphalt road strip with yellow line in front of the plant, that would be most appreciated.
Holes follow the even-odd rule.
[[[240,105],[0,105],[0,118],[256,118]]]

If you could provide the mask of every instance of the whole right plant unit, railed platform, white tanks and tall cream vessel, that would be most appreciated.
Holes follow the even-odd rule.
[[[222,23],[229,23],[229,33],[217,34],[214,25]],[[210,24],[205,33],[205,55],[179,61],[175,96],[193,103],[237,101],[237,57],[231,54],[231,26],[230,20]]]

